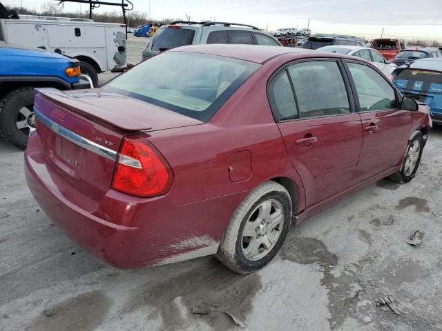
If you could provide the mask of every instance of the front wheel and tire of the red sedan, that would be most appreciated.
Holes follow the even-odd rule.
[[[419,163],[421,163],[424,145],[425,142],[423,141],[421,132],[416,132],[414,137],[410,139],[408,143],[407,154],[405,154],[401,169],[387,178],[391,181],[402,184],[411,181],[416,176]]]

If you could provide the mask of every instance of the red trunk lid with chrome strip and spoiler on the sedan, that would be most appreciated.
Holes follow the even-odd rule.
[[[37,134],[46,161],[95,201],[111,188],[123,137],[203,122],[104,90],[39,89]]]

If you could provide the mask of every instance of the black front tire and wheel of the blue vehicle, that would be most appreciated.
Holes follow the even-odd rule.
[[[0,134],[12,145],[25,149],[29,131],[35,128],[34,88],[17,88],[0,101]]]

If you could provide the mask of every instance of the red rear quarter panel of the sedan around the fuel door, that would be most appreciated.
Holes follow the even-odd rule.
[[[298,210],[304,208],[302,181],[289,160],[267,101],[267,79],[276,68],[258,69],[209,123],[149,132],[149,140],[173,168],[175,179],[167,194],[171,203],[183,205],[247,193],[273,177],[289,177],[298,185]],[[251,153],[252,173],[249,179],[233,182],[229,157],[239,151]]]

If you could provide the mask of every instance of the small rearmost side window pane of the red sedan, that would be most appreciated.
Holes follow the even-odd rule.
[[[270,92],[273,97],[273,113],[278,121],[287,121],[298,117],[295,97],[287,71],[284,70],[273,79]]]

